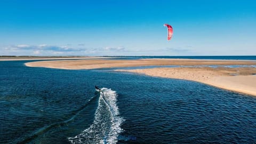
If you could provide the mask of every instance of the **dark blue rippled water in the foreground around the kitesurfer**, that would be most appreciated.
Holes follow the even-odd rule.
[[[25,62],[0,61],[0,143],[256,143],[256,97]]]

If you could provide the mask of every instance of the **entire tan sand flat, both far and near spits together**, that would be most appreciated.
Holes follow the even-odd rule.
[[[139,60],[58,60],[25,63],[29,67],[60,69],[95,69],[138,66],[198,66],[177,68],[119,69],[149,76],[187,79],[222,89],[256,95],[256,68],[227,68],[229,65],[256,65],[256,61],[238,60],[190,60],[190,59],[139,59]],[[218,65],[217,68],[206,67]]]

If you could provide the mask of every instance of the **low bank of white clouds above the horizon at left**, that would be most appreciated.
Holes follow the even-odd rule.
[[[71,45],[10,45],[2,49],[2,54],[6,55],[108,55],[125,52],[123,46],[106,46],[89,48],[82,45],[71,47]]]

